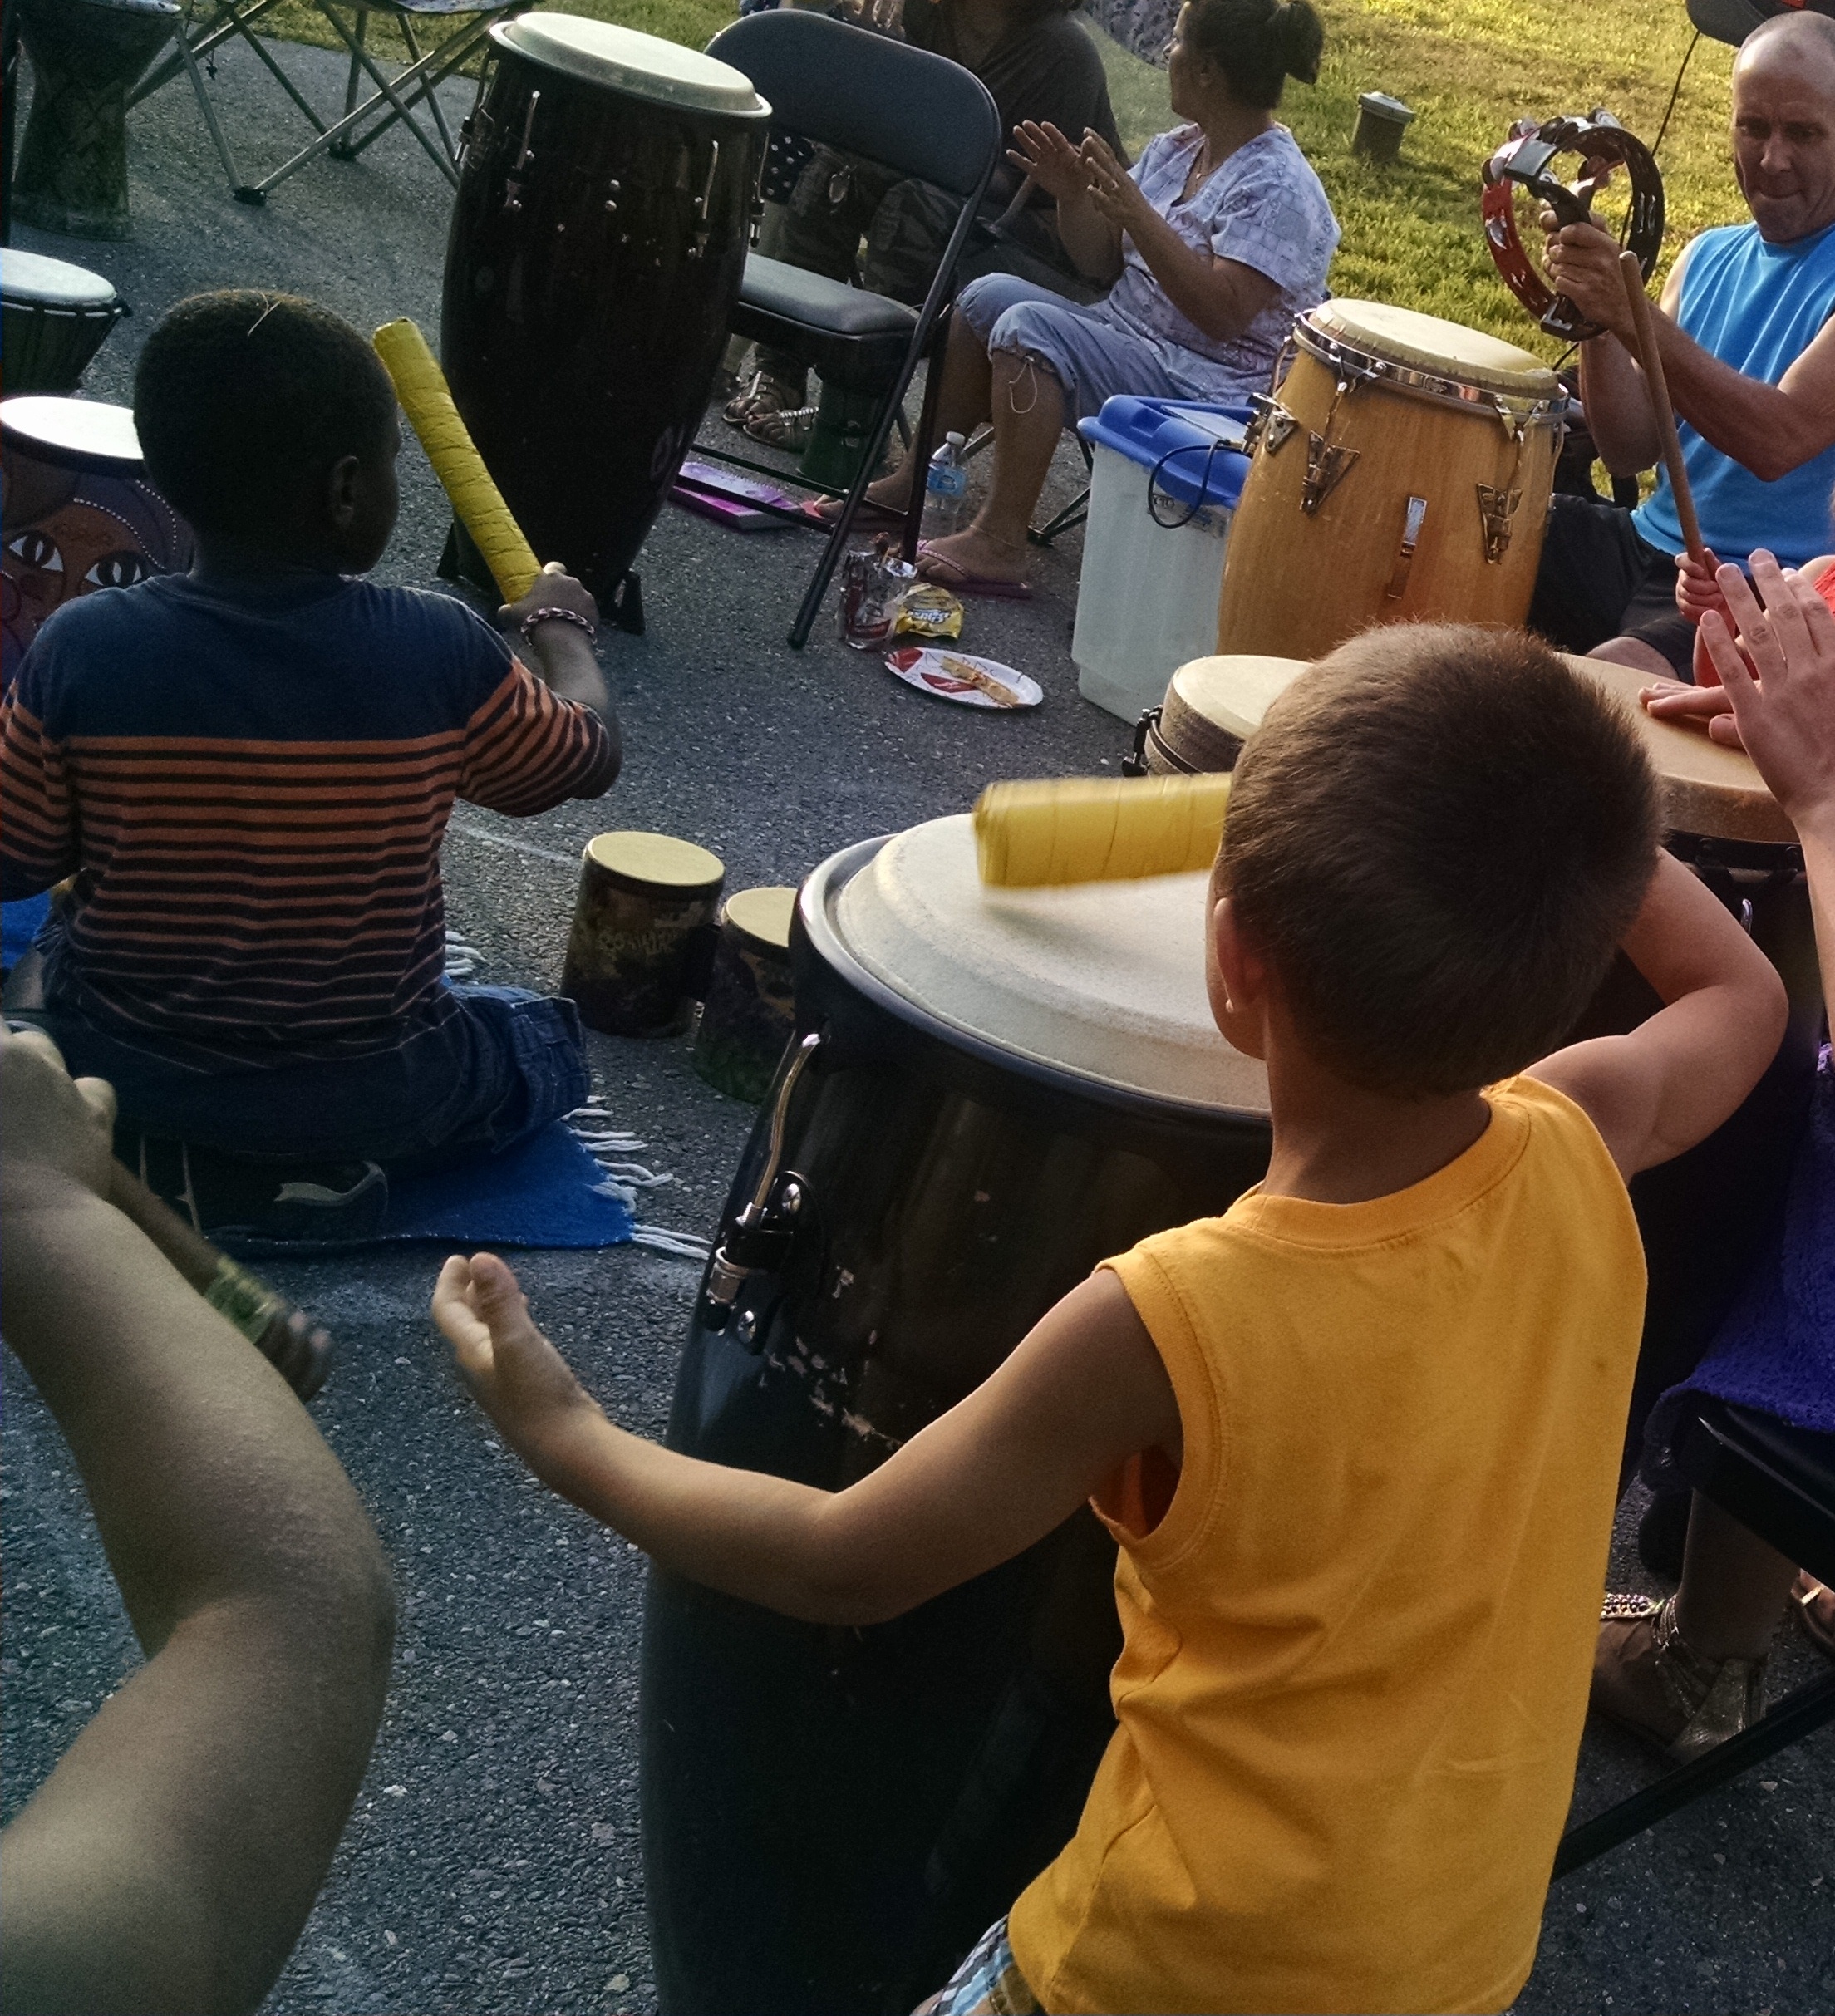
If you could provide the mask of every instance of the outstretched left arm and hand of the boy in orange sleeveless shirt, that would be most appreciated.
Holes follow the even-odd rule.
[[[897,1617],[1022,1552],[1135,1452],[1180,1450],[1172,1381],[1107,1272],[839,1494],[696,1462],[615,1427],[490,1254],[446,1262],[434,1316],[474,1395],[544,1484],[665,1568],[815,1623]]]

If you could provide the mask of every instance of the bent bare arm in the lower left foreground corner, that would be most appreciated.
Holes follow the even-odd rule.
[[[42,1040],[0,1036],[0,1123],[6,1341],[147,1649],[6,1829],[0,2008],[254,2008],[375,1738],[387,1564],[274,1369],[97,1195]]]

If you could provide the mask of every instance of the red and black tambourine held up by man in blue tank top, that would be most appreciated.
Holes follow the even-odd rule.
[[[1545,119],[1541,125],[1518,119],[1504,145],[1484,163],[1484,242],[1504,276],[1504,286],[1551,337],[1585,343],[1587,337],[1603,335],[1601,327],[1589,323],[1567,294],[1557,294],[1549,286],[1516,236],[1512,183],[1539,196],[1563,224],[1589,220],[1593,194],[1603,177],[1557,181],[1549,165],[1561,153],[1577,153],[1583,161],[1611,161],[1625,169],[1631,181],[1627,250],[1637,254],[1645,280],[1664,244],[1664,177],[1649,147],[1605,111],[1595,111],[1589,119]]]

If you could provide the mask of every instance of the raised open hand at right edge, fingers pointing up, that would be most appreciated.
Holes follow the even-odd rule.
[[[1736,566],[1722,566],[1720,591],[1738,623],[1738,641],[1718,615],[1702,619],[1702,635],[1740,742],[1797,831],[1831,835],[1835,615],[1795,569],[1779,566],[1768,552],[1752,554],[1750,583]]]

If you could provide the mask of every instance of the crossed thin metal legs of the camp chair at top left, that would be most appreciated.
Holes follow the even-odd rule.
[[[351,50],[351,71],[345,81],[345,111],[343,117],[333,125],[327,125],[319,117],[315,107],[304,99],[298,85],[280,69],[280,62],[268,48],[266,40],[254,32],[256,22],[280,0],[214,0],[210,14],[204,22],[186,20],[179,30],[177,48],[167,56],[157,69],[149,71],[139,83],[129,105],[139,105],[147,93],[157,91],[161,85],[177,77],[179,71],[188,71],[192,79],[192,89],[198,93],[198,105],[204,113],[204,123],[210,127],[210,137],[216,143],[218,159],[224,163],[224,175],[230,179],[230,190],[236,194],[238,204],[264,204],[268,200],[268,190],[276,183],[286,181],[288,175],[296,175],[309,161],[315,161],[321,153],[331,153],[339,161],[355,161],[363,149],[381,139],[395,121],[403,121],[413,133],[413,137],[427,149],[434,165],[446,179],[458,187],[458,143],[452,137],[452,129],[446,123],[446,113],[440,107],[438,87],[446,83],[448,77],[472,54],[478,42],[484,40],[486,30],[494,20],[502,20],[506,14],[516,14],[534,0],[313,0],[319,14],[339,32],[343,44]],[[190,8],[188,8],[190,14]],[[401,30],[401,46],[407,54],[407,69],[389,77],[375,60],[369,50],[369,16],[383,14],[395,22]],[[351,16],[349,20],[345,16]],[[446,28],[442,34],[440,30]],[[421,34],[434,34],[425,46],[421,44]],[[292,103],[304,113],[307,123],[319,135],[311,145],[300,147],[292,159],[282,161],[264,181],[244,181],[242,171],[236,167],[236,157],[230,153],[230,143],[224,139],[224,131],[216,121],[216,109],[210,103],[210,93],[204,85],[204,73],[200,65],[210,58],[222,42],[232,34],[240,34],[244,42],[260,56],[274,83],[292,99]],[[357,91],[359,81],[369,79],[375,91],[359,103]],[[434,131],[415,115],[415,109],[423,107],[434,121]],[[381,117],[377,117],[381,115]],[[359,127],[367,131],[359,137]]]

